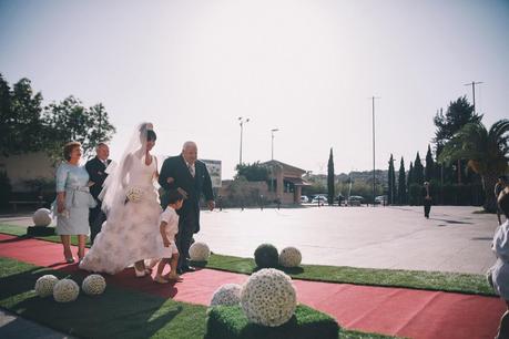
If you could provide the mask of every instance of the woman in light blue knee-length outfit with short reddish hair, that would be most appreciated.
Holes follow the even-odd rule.
[[[62,162],[57,170],[57,234],[60,235],[65,261],[74,263],[71,235],[78,236],[78,258],[84,256],[89,234],[89,208],[95,201],[89,189],[89,173],[80,166],[81,144],[70,142],[63,147]]]

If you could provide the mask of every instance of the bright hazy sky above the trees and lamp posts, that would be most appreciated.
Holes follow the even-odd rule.
[[[238,162],[275,158],[325,173],[408,168],[425,155],[440,107],[482,81],[479,113],[509,114],[509,1],[6,1],[0,72],[27,76],[47,102],[102,102],[120,156],[133,126],[152,121],[155,153]]]

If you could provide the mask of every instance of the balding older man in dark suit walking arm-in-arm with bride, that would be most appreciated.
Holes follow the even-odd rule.
[[[159,176],[159,184],[164,192],[177,189],[184,195],[184,204],[177,210],[179,234],[176,247],[179,248],[177,273],[193,271],[189,266],[189,250],[193,235],[200,232],[200,197],[203,194],[208,209],[213,210],[214,195],[208,171],[203,162],[197,161],[197,146],[194,142],[185,142],[182,153],[164,161]],[[163,208],[167,206],[165,194],[161,196]]]

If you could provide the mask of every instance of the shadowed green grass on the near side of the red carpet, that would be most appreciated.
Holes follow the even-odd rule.
[[[69,304],[33,291],[47,274],[70,277],[80,286],[84,273],[69,274],[0,257],[0,307],[63,333],[81,338],[204,338],[206,307],[165,299],[109,285],[101,296],[80,294]],[[394,338],[359,331],[342,331],[340,338]]]

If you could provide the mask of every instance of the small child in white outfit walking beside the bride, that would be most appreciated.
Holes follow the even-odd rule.
[[[182,281],[182,278],[176,274],[176,265],[179,263],[179,249],[175,245],[175,235],[179,233],[179,215],[175,210],[182,207],[184,197],[176,189],[167,192],[167,207],[160,217],[160,233],[164,244],[164,258],[157,265],[157,274],[154,281],[166,284],[171,281]],[[170,264],[171,271],[163,276],[164,266]]]

